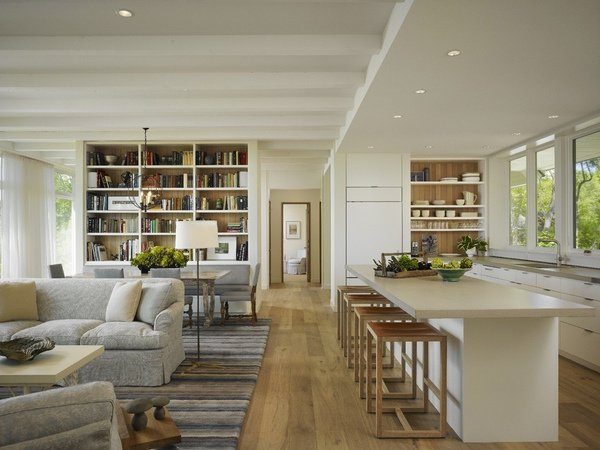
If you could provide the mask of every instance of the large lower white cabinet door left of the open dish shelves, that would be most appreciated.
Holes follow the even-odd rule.
[[[346,263],[372,264],[402,251],[402,203],[346,203]]]

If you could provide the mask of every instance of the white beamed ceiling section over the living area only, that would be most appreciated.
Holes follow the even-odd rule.
[[[155,140],[257,139],[326,160],[394,5],[0,0],[0,140],[66,163],[74,140],[148,126]]]

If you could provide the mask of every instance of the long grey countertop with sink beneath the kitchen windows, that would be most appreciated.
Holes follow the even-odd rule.
[[[598,283],[598,289],[600,289],[600,269],[565,265],[556,267],[554,264],[522,259],[499,258],[497,256],[475,256],[472,259],[474,263],[482,264],[484,266],[524,270],[527,272],[541,273],[543,275],[571,278],[573,280],[580,280],[588,283]],[[539,264],[544,267],[532,267],[532,264]]]

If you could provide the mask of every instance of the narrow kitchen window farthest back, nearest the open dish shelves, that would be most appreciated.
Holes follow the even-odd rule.
[[[527,245],[527,159],[510,161],[510,245]]]

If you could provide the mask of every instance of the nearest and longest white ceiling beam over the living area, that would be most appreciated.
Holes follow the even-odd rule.
[[[3,36],[3,56],[348,56],[371,55],[377,34],[212,36]]]

